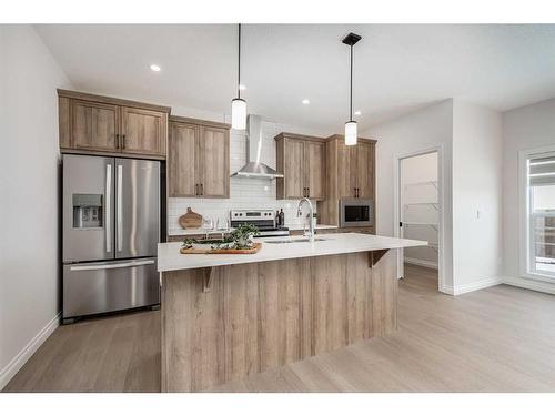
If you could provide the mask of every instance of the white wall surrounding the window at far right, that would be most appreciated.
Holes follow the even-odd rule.
[[[505,282],[555,293],[555,284],[521,277],[518,267],[518,151],[555,144],[555,99],[503,114],[503,273]]]

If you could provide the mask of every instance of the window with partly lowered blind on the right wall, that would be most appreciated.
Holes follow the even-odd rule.
[[[555,152],[525,158],[526,275],[555,278]]]

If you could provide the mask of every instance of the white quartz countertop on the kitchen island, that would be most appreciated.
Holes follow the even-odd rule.
[[[181,254],[181,243],[158,244],[158,271],[215,267],[230,264],[270,262],[274,260],[314,257],[321,255],[371,252],[385,248],[404,248],[427,245],[425,241],[384,237],[380,235],[341,233],[316,235],[323,241],[272,244],[275,240],[302,240],[299,237],[258,239],[262,248],[255,254]]]

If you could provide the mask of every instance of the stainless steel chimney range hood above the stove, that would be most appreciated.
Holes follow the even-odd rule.
[[[283,174],[260,161],[262,154],[262,118],[250,114],[246,118],[246,164],[232,176],[238,177],[283,177]]]

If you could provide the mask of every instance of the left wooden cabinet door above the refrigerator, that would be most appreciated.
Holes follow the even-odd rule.
[[[73,149],[114,151],[119,124],[117,105],[71,100],[70,142]]]

